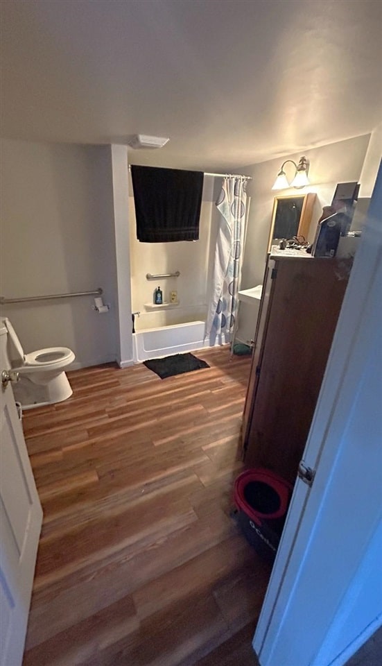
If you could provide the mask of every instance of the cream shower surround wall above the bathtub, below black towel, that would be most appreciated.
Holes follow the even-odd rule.
[[[132,311],[141,313],[135,321],[136,330],[198,319],[205,320],[218,229],[214,180],[221,179],[209,176],[205,176],[204,179],[198,241],[139,242],[134,198],[129,197]],[[130,193],[132,195],[132,187]],[[146,279],[146,273],[158,275],[175,271],[180,271],[179,278],[162,278],[155,281]],[[170,300],[171,291],[177,291],[179,307],[157,311],[150,309],[158,285],[163,291],[164,302]]]

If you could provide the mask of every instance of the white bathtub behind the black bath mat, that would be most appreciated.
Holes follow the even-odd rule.
[[[210,346],[209,339],[205,340],[204,321],[141,330],[132,338],[134,363]]]

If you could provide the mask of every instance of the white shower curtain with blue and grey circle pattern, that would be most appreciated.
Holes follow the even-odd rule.
[[[241,278],[247,181],[241,176],[223,180],[216,207],[221,213],[216,241],[213,292],[209,302],[206,337],[214,344],[228,343],[237,311],[237,292]]]

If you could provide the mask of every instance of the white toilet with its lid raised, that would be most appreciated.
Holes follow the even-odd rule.
[[[15,400],[23,409],[42,407],[67,400],[73,393],[64,370],[76,358],[67,347],[38,349],[24,354],[15,329],[8,318],[1,322],[7,330],[6,362],[8,368],[19,373],[19,380],[13,382]]]

